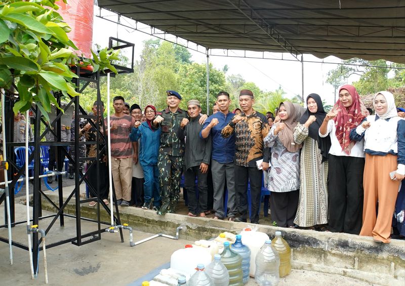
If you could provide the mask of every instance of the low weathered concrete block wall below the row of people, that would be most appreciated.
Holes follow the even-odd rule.
[[[58,200],[57,195],[51,194],[50,197],[55,202]],[[42,203],[44,209],[54,211],[47,200],[43,199]],[[74,201],[69,202],[67,213],[74,214],[74,210]],[[83,206],[82,216],[95,219],[94,208]],[[158,216],[156,212],[139,208],[120,208],[120,218],[121,223],[128,223],[136,230],[150,233],[174,235],[176,227],[183,226],[180,236],[189,240],[210,239],[223,231],[236,234],[247,226],[256,227],[270,238],[274,237],[276,230],[281,230],[292,248],[294,269],[339,274],[380,285],[405,285],[403,240],[393,239],[391,243],[383,244],[374,242],[372,237],[345,233],[249,225],[177,214]],[[109,222],[110,217],[102,211],[101,219]],[[134,240],[137,238],[134,237]]]

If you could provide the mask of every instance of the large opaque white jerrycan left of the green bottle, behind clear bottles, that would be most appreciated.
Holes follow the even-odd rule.
[[[187,244],[185,248],[176,250],[170,258],[170,268],[186,275],[193,275],[195,265],[208,265],[212,261],[211,254],[201,248],[193,248]]]

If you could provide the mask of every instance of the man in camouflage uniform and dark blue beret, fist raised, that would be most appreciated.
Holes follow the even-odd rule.
[[[184,155],[184,141],[177,137],[177,131],[183,118],[188,118],[187,111],[179,108],[180,94],[175,91],[167,91],[166,94],[168,107],[152,121],[154,128],[161,127],[157,168],[162,205],[158,215],[176,212]]]

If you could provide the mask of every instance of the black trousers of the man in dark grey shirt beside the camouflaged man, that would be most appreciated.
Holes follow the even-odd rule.
[[[184,188],[187,192],[188,211],[194,215],[207,211],[207,176],[208,172],[203,174],[199,166],[184,168]],[[195,191],[195,177],[197,177],[198,195]]]

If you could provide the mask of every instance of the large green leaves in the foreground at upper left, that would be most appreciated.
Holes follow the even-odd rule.
[[[63,0],[66,3],[66,0]],[[79,65],[73,50],[77,50],[67,33],[70,27],[56,12],[55,0],[9,0],[0,2],[0,88],[13,94],[18,101],[14,112],[28,110],[35,102],[47,116],[51,104],[58,106],[55,92],[77,96],[70,68]],[[108,67],[118,51],[93,53],[94,70]],[[16,95],[17,95],[16,94]]]

